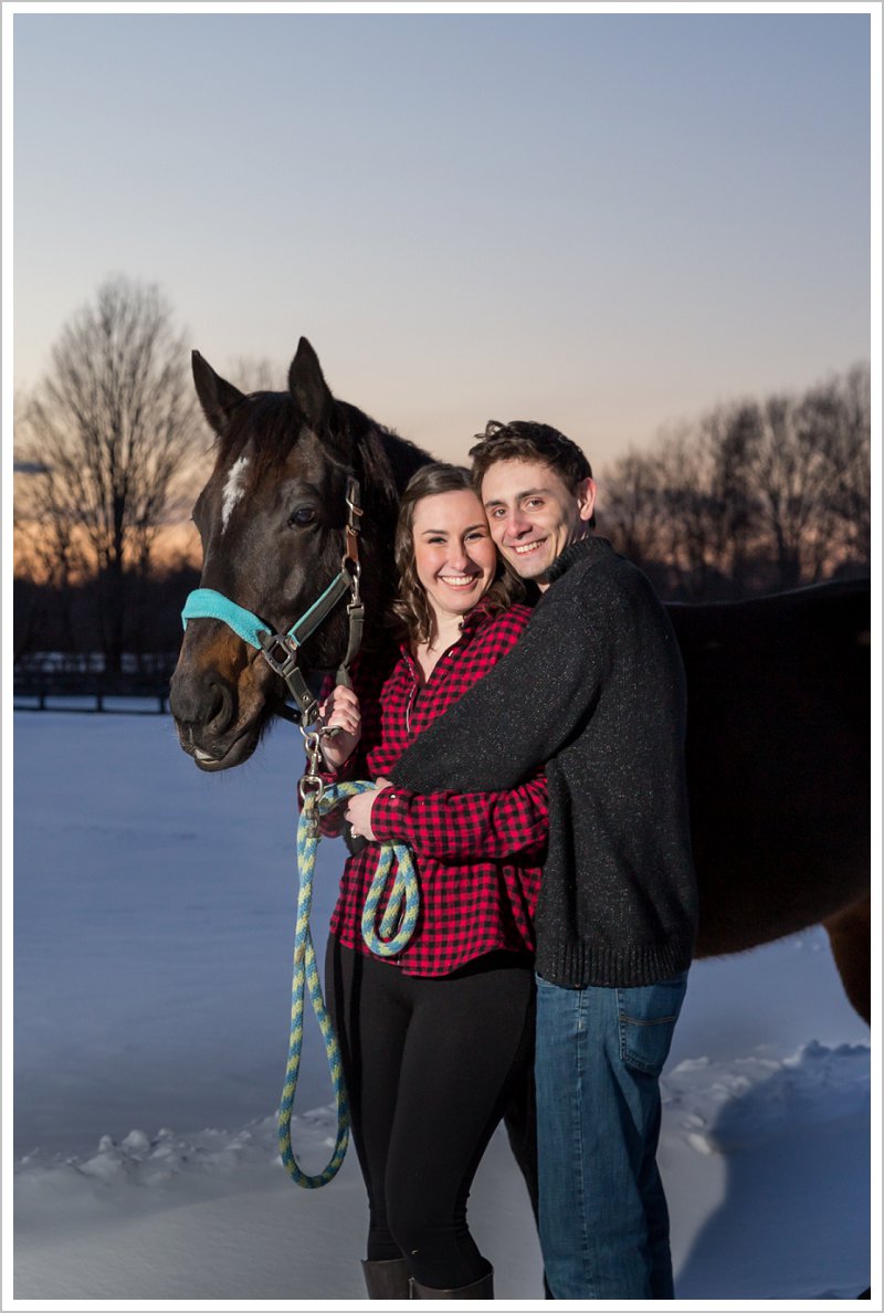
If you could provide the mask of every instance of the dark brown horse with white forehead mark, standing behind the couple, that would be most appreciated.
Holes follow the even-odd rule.
[[[201,587],[284,632],[339,570],[355,474],[366,645],[381,642],[398,496],[431,457],[336,400],[305,339],[288,393],[244,397],[197,353],[194,382],[218,435],[194,507]],[[697,952],[740,952],[822,922],[868,1016],[868,582],[669,611],[688,681]],[[299,659],[328,668],[344,645],[339,614]],[[188,625],[169,705],[201,769],[244,762],[282,693],[261,654],[222,622]]]

